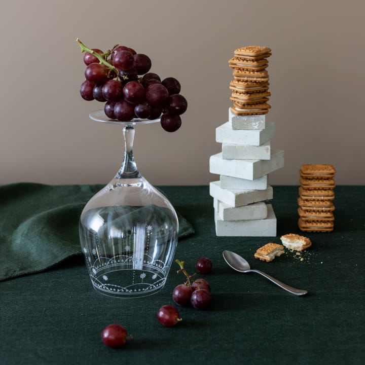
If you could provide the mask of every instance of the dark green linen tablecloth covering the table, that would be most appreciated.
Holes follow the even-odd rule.
[[[114,299],[92,288],[83,258],[76,256],[33,275],[0,282],[1,364],[360,364],[364,354],[365,187],[336,187],[335,230],[307,236],[312,247],[303,261],[286,253],[271,263],[253,258],[267,242],[280,243],[297,226],[298,187],[274,187],[276,237],[216,237],[208,187],[163,187],[195,234],[178,244],[175,257],[194,271],[207,256],[213,271],[208,311],[179,308],[172,329],[156,319],[173,304],[182,282],[177,265],[160,293]],[[289,285],[307,289],[295,297],[256,274],[232,271],[224,249],[245,257]],[[112,350],[102,328],[123,324],[133,339]]]

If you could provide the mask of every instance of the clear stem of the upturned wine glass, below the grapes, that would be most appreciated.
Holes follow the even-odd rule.
[[[116,178],[138,178],[141,177],[133,157],[134,127],[126,125],[123,127],[124,137],[124,159],[123,164],[116,174]]]

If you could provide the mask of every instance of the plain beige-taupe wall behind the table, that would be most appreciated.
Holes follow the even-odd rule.
[[[331,163],[338,185],[365,183],[365,2],[347,0],[2,0],[0,184],[106,184],[119,169],[122,128],[93,122],[102,106],[81,99],[80,38],[148,54],[189,102],[182,127],[136,128],[140,172],[155,185],[206,185],[215,128],[228,120],[228,60],[269,46],[273,148],[285,167],[272,185],[296,185],[303,163]]]

